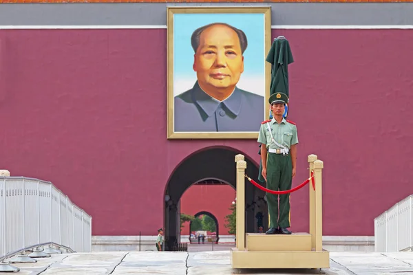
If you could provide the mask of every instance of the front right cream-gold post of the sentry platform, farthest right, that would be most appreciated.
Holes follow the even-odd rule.
[[[324,162],[317,159],[314,162],[315,175],[315,251],[323,251],[323,186],[322,170]]]

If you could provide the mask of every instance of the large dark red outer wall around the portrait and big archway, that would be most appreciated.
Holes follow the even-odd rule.
[[[324,160],[324,234],[372,235],[413,191],[412,30],[273,30],[290,41],[290,120]],[[167,140],[167,30],[0,30],[0,167],[52,181],[93,216],[93,234],[155,234],[180,161],[255,140]],[[307,231],[308,194],[293,194]],[[150,214],[148,214],[150,213]]]

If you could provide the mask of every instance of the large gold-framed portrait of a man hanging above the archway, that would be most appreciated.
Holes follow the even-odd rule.
[[[271,7],[168,7],[167,29],[167,137],[257,138],[269,115]]]

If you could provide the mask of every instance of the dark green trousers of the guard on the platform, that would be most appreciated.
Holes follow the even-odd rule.
[[[293,182],[293,165],[291,156],[268,153],[267,155],[267,188],[270,190],[290,190]],[[279,196],[279,208],[278,208]],[[290,227],[290,194],[274,195],[266,193],[270,228]],[[279,209],[279,211],[278,211]]]

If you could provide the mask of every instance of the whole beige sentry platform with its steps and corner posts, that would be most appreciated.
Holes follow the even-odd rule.
[[[237,162],[237,198],[244,197],[243,155]],[[315,190],[310,186],[310,233],[291,235],[246,233],[244,226],[245,202],[237,201],[237,248],[231,250],[233,268],[329,268],[330,253],[322,249],[321,170],[323,162],[317,155],[309,155],[310,173],[314,171]]]

